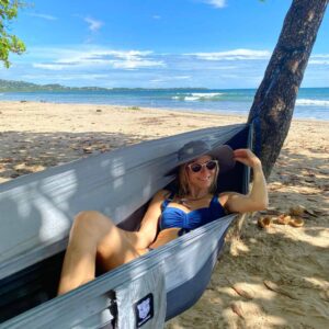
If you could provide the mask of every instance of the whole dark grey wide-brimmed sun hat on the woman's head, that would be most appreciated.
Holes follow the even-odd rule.
[[[181,164],[202,156],[211,156],[213,159],[217,160],[220,173],[231,170],[236,164],[234,150],[230,146],[220,145],[212,148],[211,145],[204,140],[192,140],[178,150],[178,161],[175,167],[168,172],[168,175],[177,173],[177,170]]]

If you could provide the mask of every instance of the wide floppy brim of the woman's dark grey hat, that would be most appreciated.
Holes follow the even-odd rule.
[[[197,159],[202,156],[211,156],[215,160],[217,160],[218,164],[219,164],[219,172],[220,173],[227,172],[236,166],[236,160],[234,158],[232,148],[228,145],[220,145],[220,146],[212,149],[211,151],[200,152],[198,155],[193,155],[190,158],[185,158],[183,161],[177,161],[175,167],[173,169],[171,169],[166,175],[177,174],[178,168],[181,164],[184,164],[186,162],[191,162],[194,159]]]

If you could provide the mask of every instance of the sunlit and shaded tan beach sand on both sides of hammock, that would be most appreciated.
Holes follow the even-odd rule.
[[[0,103],[0,182],[146,139],[243,116],[111,105]],[[329,328],[329,122],[292,122],[270,207],[227,238],[202,298],[167,328]],[[294,214],[305,225],[276,223]],[[269,216],[272,225],[257,223]]]

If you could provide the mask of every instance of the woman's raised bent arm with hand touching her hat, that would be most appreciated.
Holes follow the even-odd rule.
[[[249,149],[236,149],[235,159],[253,170],[253,182],[248,195],[226,192],[220,194],[225,207],[231,213],[262,211],[269,205],[266,181],[260,159]]]

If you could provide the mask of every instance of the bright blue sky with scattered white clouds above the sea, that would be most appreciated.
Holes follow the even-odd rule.
[[[70,87],[258,88],[288,0],[34,0],[0,79]],[[329,14],[302,87],[329,87]]]

